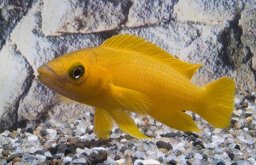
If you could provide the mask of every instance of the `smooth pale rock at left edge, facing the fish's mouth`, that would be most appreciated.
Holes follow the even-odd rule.
[[[33,79],[33,69],[10,40],[0,52],[0,132],[17,124],[17,110]]]

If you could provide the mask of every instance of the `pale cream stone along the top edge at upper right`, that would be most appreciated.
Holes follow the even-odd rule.
[[[243,9],[243,1],[186,1],[181,0],[174,6],[174,12],[180,20],[218,24],[225,20],[233,20]]]

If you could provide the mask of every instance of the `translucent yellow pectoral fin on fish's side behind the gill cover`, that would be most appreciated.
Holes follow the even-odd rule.
[[[145,115],[152,107],[152,100],[138,91],[111,85],[111,94],[127,111]]]

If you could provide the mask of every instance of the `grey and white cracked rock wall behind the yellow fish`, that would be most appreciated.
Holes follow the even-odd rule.
[[[118,33],[147,38],[177,58],[205,63],[193,83],[232,77],[255,91],[256,2],[246,0],[0,1],[0,132],[27,121],[81,117],[79,104],[56,105],[36,69],[66,52]]]

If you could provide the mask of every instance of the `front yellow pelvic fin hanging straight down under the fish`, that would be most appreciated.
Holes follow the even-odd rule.
[[[113,119],[105,109],[95,108],[93,127],[99,139],[108,139],[113,125]]]

